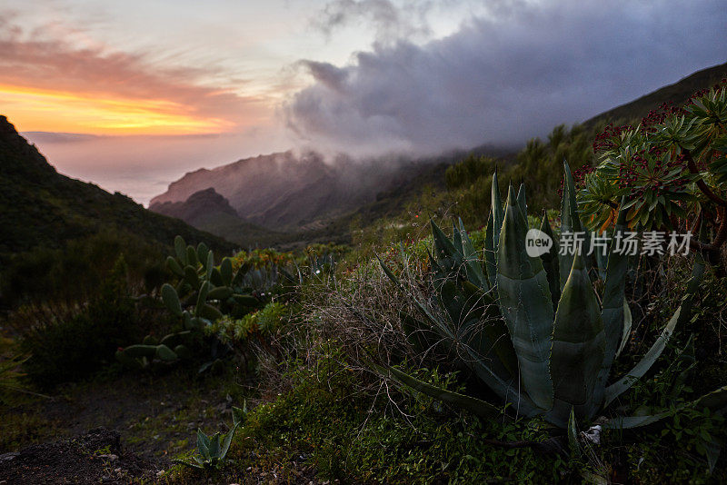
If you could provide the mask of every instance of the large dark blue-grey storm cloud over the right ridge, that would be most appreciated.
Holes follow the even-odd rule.
[[[376,43],[343,67],[303,62],[314,84],[284,106],[286,123],[308,144],[359,154],[519,144],[727,60],[722,0],[489,12],[425,45]]]

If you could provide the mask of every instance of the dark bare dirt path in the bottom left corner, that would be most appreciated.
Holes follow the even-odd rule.
[[[226,431],[241,404],[234,375],[195,374],[123,374],[0,409],[0,435],[17,437],[0,449],[0,485],[154,481],[194,449],[198,428]]]

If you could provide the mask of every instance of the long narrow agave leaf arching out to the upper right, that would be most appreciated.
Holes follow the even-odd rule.
[[[639,361],[633,369],[629,371],[622,379],[615,381],[606,388],[605,399],[603,401],[603,407],[608,406],[613,400],[619,397],[623,392],[628,391],[635,381],[642,378],[649,369],[651,369],[653,363],[662,355],[666,342],[672,336],[674,328],[677,324],[683,324],[692,312],[692,298],[694,292],[697,291],[699,283],[702,282],[702,275],[704,274],[704,261],[702,256],[696,254],[694,256],[694,266],[692,267],[692,278],[687,283],[687,290],[682,297],[682,304],[676,309],[676,312],[672,315],[672,318],[667,322],[664,327],[662,334],[653,343],[652,348],[646,352],[642,360]]]

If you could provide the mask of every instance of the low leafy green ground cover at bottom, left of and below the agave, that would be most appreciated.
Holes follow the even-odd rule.
[[[320,480],[353,483],[554,482],[578,479],[568,464],[532,448],[507,449],[482,440],[538,442],[543,422],[503,425],[468,415],[447,415],[432,399],[391,388],[362,395],[359,375],[335,344],[312,349],[315,362],[294,361],[284,379],[293,387],[247,414],[230,455],[238,469],[280,470],[292,480],[297,466]],[[453,374],[420,371],[421,379],[453,387]],[[393,400],[393,401],[390,401]],[[406,415],[397,411],[406,409]],[[253,458],[254,457],[254,458]],[[573,468],[570,468],[573,467]]]

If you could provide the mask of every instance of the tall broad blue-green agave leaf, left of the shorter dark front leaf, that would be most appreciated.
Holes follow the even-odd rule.
[[[497,250],[497,293],[520,362],[523,387],[536,406],[549,410],[553,407],[549,369],[553,302],[543,263],[525,251],[527,230],[511,190]]]

